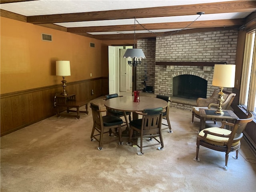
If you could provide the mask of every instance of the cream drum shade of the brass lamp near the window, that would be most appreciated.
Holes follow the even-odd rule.
[[[231,88],[235,86],[236,65],[215,64],[212,85]]]

